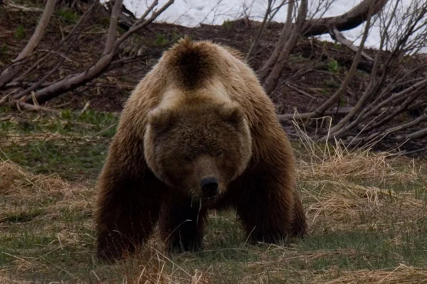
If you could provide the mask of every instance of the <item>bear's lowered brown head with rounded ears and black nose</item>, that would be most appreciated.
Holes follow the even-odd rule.
[[[232,103],[183,104],[149,113],[144,155],[154,175],[199,200],[214,199],[251,160],[251,133]]]

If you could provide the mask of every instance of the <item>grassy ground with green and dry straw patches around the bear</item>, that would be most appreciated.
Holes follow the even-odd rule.
[[[0,283],[427,283],[426,163],[295,143],[310,234],[246,244],[212,212],[205,249],[94,257],[95,180],[117,115],[0,109]]]

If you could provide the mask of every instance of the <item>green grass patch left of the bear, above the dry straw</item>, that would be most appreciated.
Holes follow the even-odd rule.
[[[0,156],[32,173],[93,180],[102,168],[117,122],[117,115],[95,111],[78,114],[65,110],[54,116],[15,114],[0,121],[0,130],[5,138],[10,137],[0,138]]]

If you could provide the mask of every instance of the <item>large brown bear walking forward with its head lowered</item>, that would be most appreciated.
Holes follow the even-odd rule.
[[[98,182],[97,256],[135,251],[155,224],[200,249],[208,209],[234,208],[251,241],[302,236],[292,148],[238,52],[180,40],[125,104]]]

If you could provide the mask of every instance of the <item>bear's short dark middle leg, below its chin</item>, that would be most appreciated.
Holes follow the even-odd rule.
[[[164,202],[159,229],[169,251],[197,251],[202,248],[207,209],[197,200],[172,195]]]

